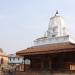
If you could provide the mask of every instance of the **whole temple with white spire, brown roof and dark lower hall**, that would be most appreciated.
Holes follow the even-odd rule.
[[[44,75],[48,75],[75,71],[75,40],[58,11],[50,18],[45,36],[35,39],[34,46],[16,54],[24,57],[25,72],[44,72]]]

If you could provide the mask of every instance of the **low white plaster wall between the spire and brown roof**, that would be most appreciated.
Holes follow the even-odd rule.
[[[34,41],[34,46],[45,45],[45,44],[54,44],[54,43],[63,43],[69,42],[69,36],[61,36],[61,37],[52,37],[46,39],[39,39]]]

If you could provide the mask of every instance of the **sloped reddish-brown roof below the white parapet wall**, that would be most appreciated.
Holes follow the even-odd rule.
[[[59,43],[59,44],[47,44],[41,46],[33,46],[21,51],[18,51],[17,55],[35,55],[35,54],[46,54],[46,53],[57,53],[57,52],[67,52],[75,49],[75,44],[72,43]]]

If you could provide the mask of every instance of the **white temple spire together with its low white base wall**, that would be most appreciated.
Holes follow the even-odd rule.
[[[46,36],[34,40],[34,46],[64,42],[75,43],[69,35],[64,18],[56,11],[55,15],[50,18]]]

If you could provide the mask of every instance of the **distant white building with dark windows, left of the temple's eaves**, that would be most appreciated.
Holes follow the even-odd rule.
[[[16,54],[8,55],[8,64],[16,71],[23,71],[24,58]]]

